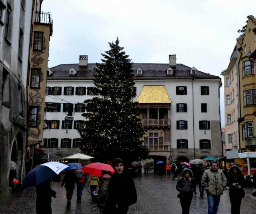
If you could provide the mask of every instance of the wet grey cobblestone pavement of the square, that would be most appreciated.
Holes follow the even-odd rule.
[[[64,174],[62,174],[63,178]],[[146,177],[134,178],[137,189],[137,203],[130,206],[129,214],[166,214],[166,213],[182,213],[179,199],[177,198],[177,190],[175,189],[177,180],[172,177],[158,177],[158,175],[149,174]],[[61,182],[54,182],[52,189],[57,192],[57,198],[52,198],[53,214],[98,214],[98,207],[91,203],[91,195],[89,191],[84,189],[82,202],[76,202],[76,188],[74,189],[74,197],[71,207],[67,207],[66,189],[60,187]],[[89,188],[88,188],[89,190]],[[246,194],[251,194],[252,188],[246,188]],[[207,196],[203,198],[199,195],[193,196],[190,214],[207,214]],[[35,187],[16,192],[9,198],[0,200],[0,213],[8,214],[34,214],[35,212],[36,193]],[[43,202],[42,202],[43,206]],[[219,214],[230,214],[231,205],[228,191],[221,196],[219,205]],[[243,198],[241,205],[241,214],[255,214],[256,201]]]

